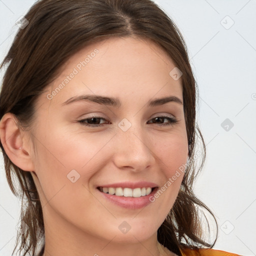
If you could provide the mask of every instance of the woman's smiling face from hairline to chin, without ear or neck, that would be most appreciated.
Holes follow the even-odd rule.
[[[110,38],[73,55],[40,95],[32,160],[46,231],[119,242],[156,234],[188,156],[174,67],[148,39]],[[139,197],[143,187],[161,192]]]

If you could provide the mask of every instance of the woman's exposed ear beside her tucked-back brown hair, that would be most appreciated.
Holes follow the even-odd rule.
[[[33,171],[28,133],[17,125],[17,118],[8,112],[0,120],[0,140],[9,159],[20,169]]]

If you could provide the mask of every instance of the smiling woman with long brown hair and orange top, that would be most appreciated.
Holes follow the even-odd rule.
[[[201,212],[215,218],[192,191],[205,146],[170,18],[150,0],[41,0],[22,22],[0,94],[6,176],[23,196],[15,249],[235,255],[210,249]]]

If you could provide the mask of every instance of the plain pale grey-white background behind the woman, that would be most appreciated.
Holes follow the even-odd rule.
[[[34,2],[0,0],[0,61],[15,21]],[[256,0],[155,2],[180,29],[199,87],[198,123],[207,155],[195,192],[216,214],[215,248],[256,255]],[[221,126],[226,118],[234,124],[223,124],[228,131]],[[19,202],[1,159],[0,255],[12,252],[18,218]]]

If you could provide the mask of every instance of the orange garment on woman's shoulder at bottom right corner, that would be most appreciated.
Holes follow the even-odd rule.
[[[238,254],[215,249],[182,249],[182,256],[239,256]]]

